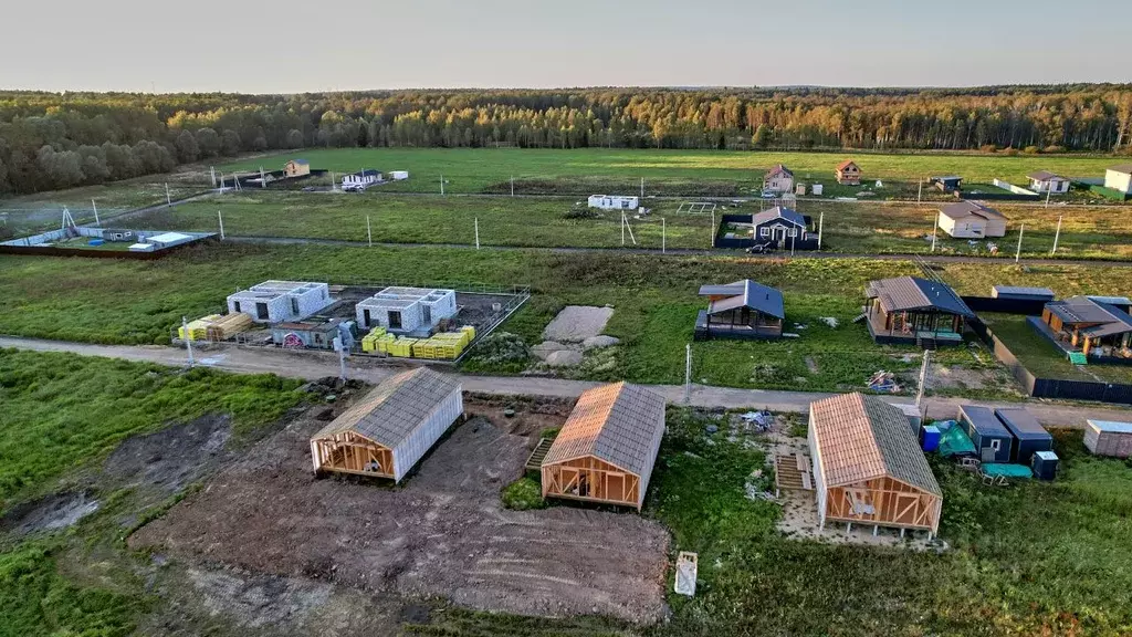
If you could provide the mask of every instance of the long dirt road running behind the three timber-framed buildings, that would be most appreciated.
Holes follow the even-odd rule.
[[[38,351],[69,351],[84,356],[103,356],[158,363],[162,365],[185,365],[186,351],[163,346],[102,346],[67,341],[46,341],[0,337],[0,347],[31,349]],[[289,353],[275,349],[247,349],[224,347],[222,349],[196,351],[199,365],[216,367],[235,373],[271,373],[281,376],[314,380],[338,374],[337,356],[333,353]],[[350,359],[349,374],[368,383],[377,383],[403,367],[375,364],[360,357]],[[465,391],[513,396],[577,397],[586,389],[600,383],[567,381],[531,376],[475,376],[461,375]],[[683,385],[650,385],[664,396],[669,402],[685,404]],[[814,400],[832,396],[826,392],[770,391],[732,389],[693,384],[688,405],[697,407],[722,407],[727,409],[770,409],[772,411],[806,413]],[[887,397],[891,402],[911,402],[909,397]],[[932,418],[951,418],[961,404],[1005,405],[1005,401],[978,401],[961,398],[928,397],[925,399],[927,415]],[[1129,421],[1132,409],[1117,406],[1081,406],[1029,400],[1026,407],[1046,425],[1083,427],[1088,418]]]

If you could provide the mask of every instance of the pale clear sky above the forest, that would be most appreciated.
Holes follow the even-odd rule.
[[[299,93],[1132,82],[1129,0],[59,0],[0,88]]]

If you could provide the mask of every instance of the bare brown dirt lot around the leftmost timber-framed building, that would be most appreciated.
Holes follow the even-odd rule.
[[[521,433],[563,417],[491,417],[498,426],[474,417],[455,427],[396,487],[316,479],[308,441],[325,423],[297,418],[130,545],[483,610],[664,617],[664,528],[629,512],[503,509],[499,491],[522,474],[537,441]]]

